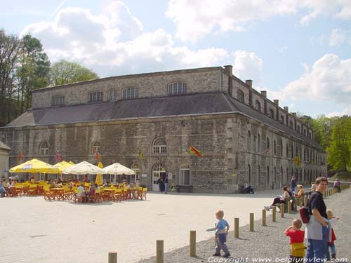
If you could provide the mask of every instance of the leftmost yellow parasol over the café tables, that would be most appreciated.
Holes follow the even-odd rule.
[[[10,173],[60,173],[60,170],[51,164],[38,159],[32,159],[21,163],[9,170]]]

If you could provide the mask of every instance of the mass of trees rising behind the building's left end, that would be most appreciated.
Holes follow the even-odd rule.
[[[31,92],[47,86],[96,79],[98,75],[62,60],[52,67],[39,39],[6,34],[0,29],[0,126],[31,107]]]

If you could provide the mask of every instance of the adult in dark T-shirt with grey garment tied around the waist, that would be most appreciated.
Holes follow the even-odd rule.
[[[310,214],[310,221],[306,224],[305,237],[308,239],[306,258],[308,262],[321,262],[327,252],[327,215],[326,204],[323,200],[324,191],[328,187],[326,177],[317,177],[316,191],[312,191],[308,199],[307,209]]]

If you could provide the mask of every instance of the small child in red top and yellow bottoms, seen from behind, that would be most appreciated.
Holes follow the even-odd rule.
[[[285,230],[286,236],[290,237],[291,246],[291,262],[303,262],[305,257],[305,244],[303,243],[303,238],[305,237],[305,231],[300,230],[303,222],[296,219],[293,220],[293,224]]]

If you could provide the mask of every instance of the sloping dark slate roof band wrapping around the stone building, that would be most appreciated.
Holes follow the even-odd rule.
[[[223,113],[244,114],[272,128],[281,130],[283,133],[296,137],[298,140],[320,148],[317,142],[221,92],[143,97],[135,100],[81,104],[69,107],[29,109],[9,123],[6,128]]]

